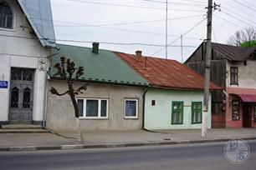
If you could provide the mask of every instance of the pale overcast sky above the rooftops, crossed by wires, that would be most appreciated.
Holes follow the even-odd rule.
[[[213,12],[212,42],[227,43],[234,32],[256,28],[256,0],[215,2],[221,5],[221,11]],[[116,42],[100,43],[100,48],[127,53],[142,50],[145,56],[166,57],[165,48],[158,47],[166,41],[166,0],[51,0],[51,3],[56,39],[79,41],[59,43],[91,47],[90,42]],[[168,0],[168,43],[177,46],[168,47],[169,59],[184,62],[206,39],[205,7],[207,0]]]

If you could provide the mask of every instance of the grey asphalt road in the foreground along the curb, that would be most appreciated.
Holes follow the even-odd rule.
[[[160,147],[100,148],[29,152],[1,152],[0,169],[255,169],[256,141],[248,141],[250,156],[232,164],[224,157],[225,143]]]

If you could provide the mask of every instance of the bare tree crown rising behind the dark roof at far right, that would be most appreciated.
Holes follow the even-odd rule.
[[[228,44],[240,47],[244,42],[256,41],[256,28],[245,28],[235,32],[228,39]]]

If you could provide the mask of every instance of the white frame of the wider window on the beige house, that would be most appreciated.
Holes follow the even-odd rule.
[[[81,119],[108,119],[109,118],[109,99],[108,98],[76,98],[77,100],[83,100],[84,102],[84,107],[83,107],[83,117],[79,117]],[[98,117],[86,117],[86,102],[87,100],[98,100]],[[101,101],[105,100],[106,101],[106,116],[101,117]]]

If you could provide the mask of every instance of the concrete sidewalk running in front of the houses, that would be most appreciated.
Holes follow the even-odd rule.
[[[0,151],[208,143],[228,141],[232,138],[256,139],[256,129],[209,129],[207,138],[201,138],[199,129],[84,132],[82,144],[78,143],[76,137],[76,133],[62,133],[60,136],[52,133],[0,133]]]

